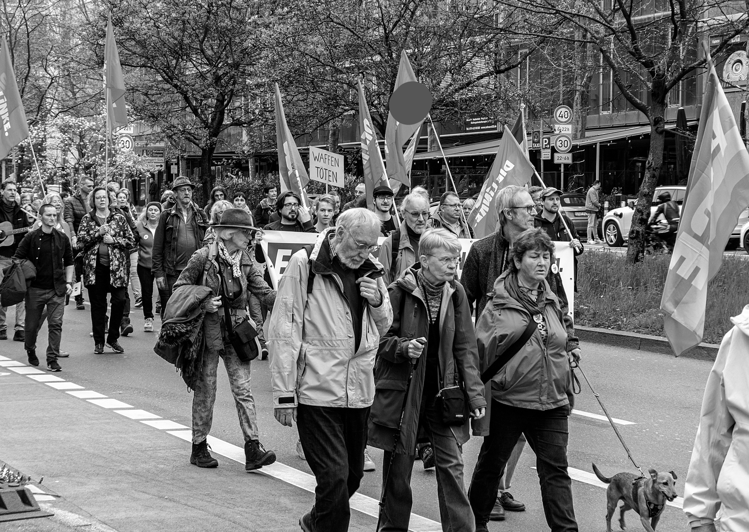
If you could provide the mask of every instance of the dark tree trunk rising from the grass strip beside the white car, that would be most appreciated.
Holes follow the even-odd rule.
[[[653,103],[650,107],[650,148],[648,160],[645,163],[645,177],[640,185],[637,195],[637,205],[632,215],[632,224],[629,230],[629,242],[627,250],[627,262],[637,263],[645,252],[645,228],[650,218],[650,206],[652,204],[653,192],[658,184],[658,176],[661,174],[663,165],[664,147],[664,114],[666,105],[664,102]]]

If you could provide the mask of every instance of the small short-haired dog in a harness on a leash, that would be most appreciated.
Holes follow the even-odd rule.
[[[607,478],[593,464],[593,472],[598,480],[609,485],[606,489],[606,532],[611,532],[611,517],[619,500],[624,501],[619,516],[619,526],[622,531],[627,530],[624,524],[624,513],[627,510],[634,510],[640,514],[640,522],[645,530],[655,532],[655,525],[658,525],[661,513],[666,507],[666,500],[673,501],[676,498],[674,488],[676,473],[673,471],[658,473],[650,468],[648,470],[650,478],[637,477],[631,473],[617,473]]]

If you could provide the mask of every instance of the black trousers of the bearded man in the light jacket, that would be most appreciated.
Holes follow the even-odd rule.
[[[309,406],[297,408],[297,429],[304,456],[315,474],[315,532],[346,532],[351,519],[348,499],[364,476],[367,444],[366,409]]]

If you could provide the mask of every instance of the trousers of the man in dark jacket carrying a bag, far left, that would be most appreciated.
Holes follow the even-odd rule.
[[[44,308],[46,307],[47,336],[49,338],[46,349],[46,360],[47,362],[57,360],[60,354],[65,296],[58,296],[55,289],[45,290],[43,288],[28,287],[25,302],[24,347],[26,351],[37,348],[37,335],[43,322]]]

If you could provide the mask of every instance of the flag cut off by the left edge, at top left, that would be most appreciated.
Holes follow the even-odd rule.
[[[13,147],[28,137],[26,113],[16,84],[16,74],[13,73],[7,40],[3,40],[0,51],[0,120],[0,159],[5,159]]]

